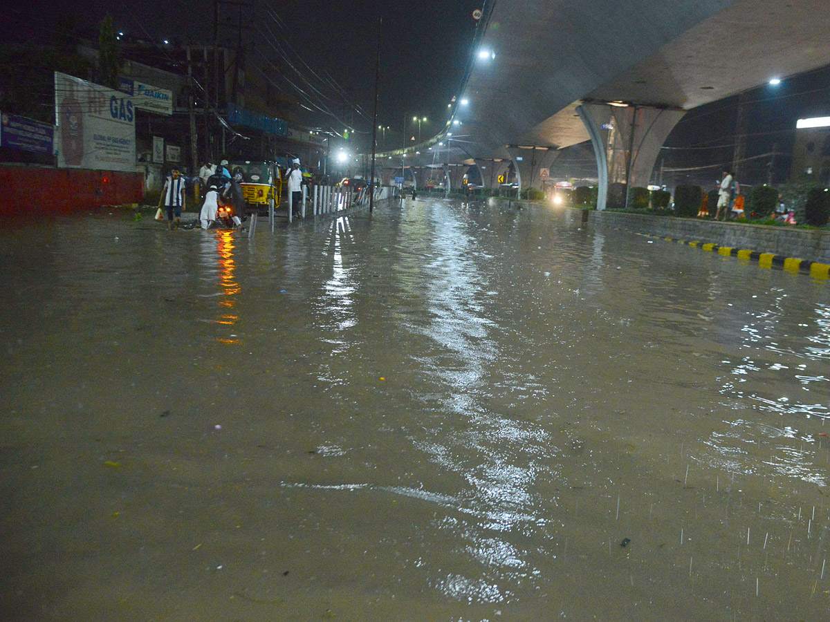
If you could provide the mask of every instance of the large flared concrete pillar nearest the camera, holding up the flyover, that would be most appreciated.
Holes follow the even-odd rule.
[[[580,104],[577,114],[597,158],[597,209],[604,210],[608,184],[648,186],[660,148],[686,111],[634,104]]]

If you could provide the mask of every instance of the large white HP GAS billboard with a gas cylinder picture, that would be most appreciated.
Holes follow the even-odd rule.
[[[132,98],[55,72],[55,143],[60,168],[135,171]]]

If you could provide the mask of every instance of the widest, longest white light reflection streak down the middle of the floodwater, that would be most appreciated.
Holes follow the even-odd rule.
[[[456,554],[478,562],[482,574],[449,573],[432,584],[456,600],[509,601],[513,592],[502,584],[515,585],[537,574],[527,552],[511,539],[544,522],[535,517],[539,504],[530,490],[540,475],[549,476],[550,469],[539,464],[544,458],[549,463],[555,448],[544,430],[529,431],[526,422],[483,406],[488,400],[482,391],[489,386],[489,370],[504,358],[493,345],[497,340],[491,331],[497,330],[496,323],[487,317],[489,309],[481,301],[491,287],[476,264],[475,242],[457,216],[442,207],[433,209],[442,213],[424,216],[440,222],[430,236],[430,255],[435,259],[427,266],[430,279],[425,284],[430,319],[426,323],[413,319],[408,328],[437,344],[437,355],[419,362],[446,391],[447,414],[468,425],[457,433],[433,430],[431,439],[417,440],[416,446],[469,484],[473,497],[466,503],[476,508],[475,518],[445,517],[452,524],[437,527],[461,534],[466,545]],[[521,457],[515,453],[519,446]]]

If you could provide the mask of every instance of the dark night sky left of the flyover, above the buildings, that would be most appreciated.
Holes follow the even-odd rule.
[[[266,54],[285,67],[281,53],[287,54],[303,76],[287,68],[286,77],[304,90],[314,104],[305,101],[304,95],[286,80],[277,78],[276,82],[312,109],[316,104],[331,113],[315,110],[318,114],[310,115],[308,123],[330,127],[338,133],[348,124],[357,131],[354,139],[358,144],[366,146],[370,144],[373,125],[378,19],[383,17],[378,124],[391,128],[386,140],[392,148],[402,142],[405,119],[409,136],[417,134],[417,124],[412,123],[414,115],[429,119],[422,123],[424,136],[432,135],[446,122],[447,103],[461,84],[471,50],[476,26],[471,13],[481,6],[481,0],[249,0],[249,4],[243,10],[246,27],[242,36],[247,46],[255,48],[250,61],[268,69],[267,61],[261,57]],[[14,33],[17,42],[56,32],[60,29],[56,24],[62,23],[57,18],[61,13],[76,20],[76,32],[89,36],[96,35],[100,20],[109,14],[116,31],[128,36],[155,41],[213,41],[212,0],[12,0],[4,2],[4,7],[6,14],[0,20],[8,26],[4,30]],[[232,46],[237,41],[237,15],[236,7],[220,6],[220,41]],[[281,44],[282,50],[277,49],[277,44]],[[291,50],[298,56],[292,55]],[[301,64],[300,58],[308,67]],[[341,92],[325,84],[328,77],[337,82]],[[304,84],[304,78],[320,93]]]

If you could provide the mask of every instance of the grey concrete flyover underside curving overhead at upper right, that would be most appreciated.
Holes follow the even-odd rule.
[[[590,138],[605,153],[610,182],[624,168],[628,182],[646,185],[652,155],[683,110],[830,63],[827,0],[639,0],[636,10],[618,0],[515,0],[492,7],[477,50],[489,54],[473,59],[458,98],[468,103],[453,111],[460,125],[451,127],[462,128],[463,139],[442,134],[412,148],[407,157],[417,163],[508,159],[508,145],[564,148]],[[611,113],[616,138],[592,136],[577,108],[608,102],[639,112]],[[666,112],[643,112],[660,109]],[[583,107],[589,111],[600,129],[610,122]],[[621,116],[637,114],[654,124],[641,146],[636,131],[635,143],[627,140],[630,122]],[[535,173],[522,162],[514,164],[527,187]]]

